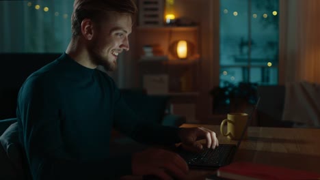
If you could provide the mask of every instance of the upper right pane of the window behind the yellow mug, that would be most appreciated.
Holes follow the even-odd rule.
[[[252,0],[251,64],[278,65],[278,0]]]

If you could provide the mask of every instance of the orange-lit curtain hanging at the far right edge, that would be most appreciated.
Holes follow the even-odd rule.
[[[287,0],[286,8],[282,16],[286,30],[280,35],[286,41],[282,46],[286,55],[280,55],[284,82],[320,83],[320,1]]]

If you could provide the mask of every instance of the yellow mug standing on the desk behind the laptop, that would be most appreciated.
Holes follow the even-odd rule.
[[[229,139],[238,140],[241,137],[241,134],[247,125],[248,121],[248,114],[235,112],[235,113],[228,113],[227,119],[221,122],[220,125],[220,132],[223,136],[227,136]],[[227,132],[224,132],[224,125],[227,124]],[[245,131],[243,138],[248,137],[248,132]]]

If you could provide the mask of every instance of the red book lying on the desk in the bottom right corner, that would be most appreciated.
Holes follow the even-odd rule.
[[[217,170],[217,177],[225,179],[320,179],[320,174],[280,166],[253,162],[233,162]],[[210,180],[209,177],[206,179]]]

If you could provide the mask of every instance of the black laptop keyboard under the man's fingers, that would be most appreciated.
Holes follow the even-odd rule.
[[[219,145],[215,149],[203,147],[200,153],[182,151],[179,153],[189,166],[223,166],[230,163],[230,154],[235,151],[235,145]]]

